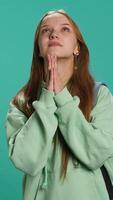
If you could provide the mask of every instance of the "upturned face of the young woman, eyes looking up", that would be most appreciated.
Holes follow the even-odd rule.
[[[38,40],[40,56],[48,54],[59,58],[72,57],[78,51],[77,39],[72,24],[59,13],[46,16],[41,24]]]

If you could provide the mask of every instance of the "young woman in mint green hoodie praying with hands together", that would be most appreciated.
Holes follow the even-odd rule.
[[[100,170],[113,170],[113,97],[89,73],[89,52],[63,10],[36,30],[28,83],[10,103],[9,156],[25,173],[24,200],[108,200]],[[95,101],[95,102],[94,102]]]

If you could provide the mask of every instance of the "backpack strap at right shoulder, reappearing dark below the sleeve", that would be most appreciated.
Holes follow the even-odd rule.
[[[99,88],[101,87],[101,85],[105,85],[106,86],[105,83],[95,82],[93,106],[96,105],[97,94],[98,94],[98,91],[99,91]],[[101,172],[102,172],[102,175],[103,175],[103,179],[104,179],[104,182],[105,182],[105,185],[106,185],[106,189],[107,189],[107,192],[108,192],[108,195],[109,195],[109,199],[113,200],[113,185],[112,185],[109,173],[108,173],[108,171],[107,171],[107,169],[105,168],[104,165],[100,169],[101,169]]]

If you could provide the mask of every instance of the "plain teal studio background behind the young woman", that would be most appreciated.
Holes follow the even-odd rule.
[[[30,73],[36,26],[48,10],[65,9],[90,50],[90,69],[113,93],[113,0],[0,0],[0,200],[22,199],[22,176],[8,159],[9,101]]]

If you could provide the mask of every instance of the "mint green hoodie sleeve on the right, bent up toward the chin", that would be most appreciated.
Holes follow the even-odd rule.
[[[74,156],[87,168],[99,168],[113,156],[113,96],[101,86],[88,122],[79,109],[80,99],[67,88],[54,96],[58,124]]]

